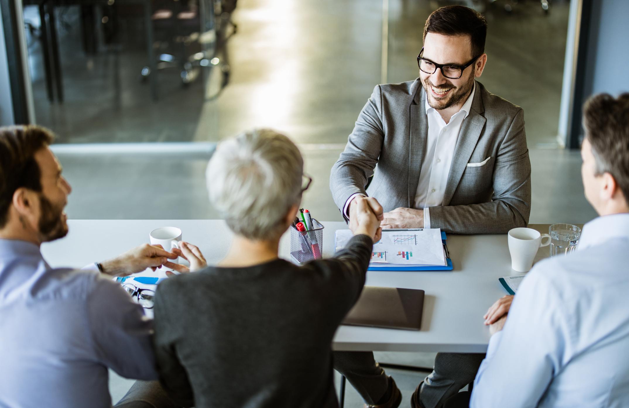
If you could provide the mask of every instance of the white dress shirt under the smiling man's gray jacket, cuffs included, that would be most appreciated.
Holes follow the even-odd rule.
[[[476,81],[472,87],[472,93],[467,97],[459,112],[452,115],[450,121],[445,123],[437,109],[431,108],[428,104],[428,93],[424,102],[426,116],[428,118],[428,138],[426,140],[426,155],[421,162],[420,181],[417,185],[415,195],[415,208],[424,210],[424,228],[430,228],[429,207],[442,206],[445,185],[450,174],[450,165],[454,158],[454,148],[459,139],[459,133],[463,120],[472,108],[476,92]],[[349,218],[348,207],[356,196],[363,194],[352,194],[345,202],[343,212]]]

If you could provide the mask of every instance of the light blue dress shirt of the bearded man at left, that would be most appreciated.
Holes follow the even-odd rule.
[[[0,408],[111,407],[108,368],[155,379],[152,321],[98,272],[0,239]]]

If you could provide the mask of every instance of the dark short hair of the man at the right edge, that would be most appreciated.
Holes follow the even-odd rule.
[[[592,145],[596,174],[611,174],[629,200],[629,93],[589,98],[583,107],[583,127]]]

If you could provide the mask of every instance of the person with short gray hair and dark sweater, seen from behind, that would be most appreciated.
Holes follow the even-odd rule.
[[[194,248],[191,270],[201,270],[157,289],[155,351],[165,390],[197,408],[338,407],[331,341],[365,283],[382,208],[361,197],[347,247],[294,265],[279,258],[279,240],[309,178],[289,138],[253,130],[223,141],[207,179],[234,236],[218,265],[204,267]]]

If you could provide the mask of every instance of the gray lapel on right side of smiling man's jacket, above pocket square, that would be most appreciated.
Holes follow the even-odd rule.
[[[474,101],[472,101],[472,108],[467,118],[464,119],[459,132],[459,138],[457,139],[457,145],[454,148],[454,157],[452,158],[452,165],[450,165],[450,173],[448,174],[448,182],[445,185],[445,192],[443,193],[443,205],[450,204],[450,200],[454,195],[454,191],[459,185],[459,181],[463,175],[465,167],[476,148],[476,143],[481,137],[482,129],[485,126],[485,119],[481,116],[484,112],[482,105],[482,93],[484,88],[479,86],[476,82],[476,93],[474,94]]]

